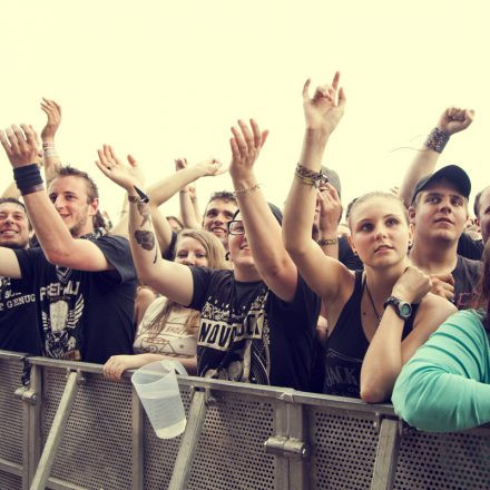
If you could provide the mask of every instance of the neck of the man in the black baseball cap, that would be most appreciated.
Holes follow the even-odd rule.
[[[458,262],[458,242],[430,242],[424,238],[414,241],[410,258],[416,267],[427,274],[441,274],[453,271]]]

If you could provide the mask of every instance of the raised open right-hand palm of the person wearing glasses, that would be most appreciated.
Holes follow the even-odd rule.
[[[229,174],[233,178],[244,178],[251,174],[268,136],[268,130],[261,133],[254,119],[251,119],[249,127],[243,120],[238,120],[238,126],[239,130],[235,126],[232,127],[233,138],[229,139],[232,148]]]

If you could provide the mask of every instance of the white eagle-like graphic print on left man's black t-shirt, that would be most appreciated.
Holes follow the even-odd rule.
[[[80,317],[84,313],[84,295],[80,281],[71,281],[72,271],[56,267],[59,280],[40,288],[45,349],[50,357],[65,357],[80,349]]]

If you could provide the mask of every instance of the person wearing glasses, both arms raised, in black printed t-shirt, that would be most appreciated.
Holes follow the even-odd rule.
[[[310,390],[320,298],[298,275],[281,239],[281,212],[267,205],[254,164],[267,137],[254,120],[232,128],[229,174],[239,210],[228,224],[233,271],[161,258],[139,170],[110,147],[97,166],[128,192],[129,238],[140,280],[200,312],[197,374]]]

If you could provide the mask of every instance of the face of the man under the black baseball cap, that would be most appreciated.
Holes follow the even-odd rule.
[[[435,182],[416,196],[410,219],[415,225],[416,241],[454,244],[467,224],[468,199],[449,180]]]

